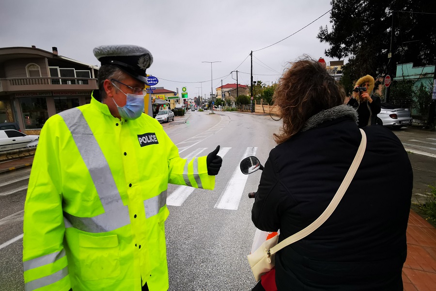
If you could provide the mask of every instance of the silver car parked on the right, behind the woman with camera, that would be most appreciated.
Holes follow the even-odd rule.
[[[381,102],[381,111],[377,114],[383,126],[392,128],[401,128],[412,124],[412,113],[408,108],[400,108],[398,106]]]

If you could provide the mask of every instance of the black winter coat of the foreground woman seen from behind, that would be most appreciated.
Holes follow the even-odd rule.
[[[389,129],[364,131],[363,160],[336,210],[276,254],[279,291],[403,290],[412,168]],[[343,116],[272,149],[252,209],[254,225],[280,228],[279,242],[310,225],[338,190],[360,140],[356,122]]]

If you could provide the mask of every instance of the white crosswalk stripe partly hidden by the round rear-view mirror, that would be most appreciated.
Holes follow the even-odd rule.
[[[247,147],[241,161],[249,156],[256,154],[257,147]],[[237,210],[241,201],[242,193],[244,192],[245,184],[247,183],[248,175],[244,175],[239,168],[239,163],[233,172],[232,178],[227,182],[226,188],[215,204],[215,208]]]

